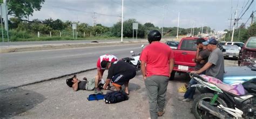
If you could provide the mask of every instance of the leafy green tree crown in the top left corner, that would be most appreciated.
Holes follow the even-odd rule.
[[[6,3],[9,3],[8,15],[28,18],[34,10],[39,11],[42,8],[44,0],[7,0]]]

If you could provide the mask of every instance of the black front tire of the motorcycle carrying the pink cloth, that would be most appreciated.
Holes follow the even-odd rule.
[[[206,114],[205,116],[208,116],[208,117],[204,117],[204,118],[218,118],[218,117],[215,117],[215,116],[211,115],[210,113],[206,113],[206,111],[200,110],[198,108],[198,103],[201,100],[204,100],[204,101],[210,103],[213,96],[214,95],[212,93],[204,93],[204,94],[199,95],[196,99],[194,99],[193,106],[192,106],[192,113],[194,114],[194,117],[199,119],[199,118],[203,118],[202,114]],[[218,105],[222,104],[224,107],[227,107],[227,103],[223,99],[220,99],[219,97],[215,102],[217,102]],[[217,104],[216,104],[216,106],[217,106]]]

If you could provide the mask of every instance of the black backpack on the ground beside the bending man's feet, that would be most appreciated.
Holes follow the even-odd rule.
[[[105,103],[117,103],[117,102],[126,101],[128,99],[129,97],[127,96],[127,94],[122,90],[120,90],[120,91],[106,93],[103,100]]]

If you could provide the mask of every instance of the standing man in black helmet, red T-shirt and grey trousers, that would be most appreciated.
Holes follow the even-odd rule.
[[[161,40],[159,31],[150,31],[147,39],[150,44],[140,54],[140,60],[150,103],[150,116],[154,119],[165,113],[165,95],[174,64],[174,56],[168,45],[159,42]]]

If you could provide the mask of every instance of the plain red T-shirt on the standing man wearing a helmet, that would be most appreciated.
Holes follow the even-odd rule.
[[[153,42],[140,54],[140,60],[146,62],[146,76],[170,76],[170,59],[174,58],[172,49],[163,43]]]

